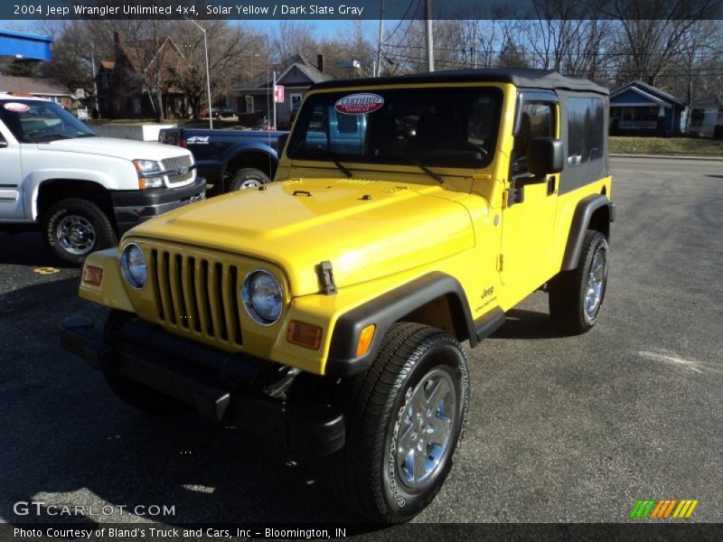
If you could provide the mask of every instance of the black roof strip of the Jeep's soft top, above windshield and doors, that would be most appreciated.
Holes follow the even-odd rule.
[[[610,91],[581,77],[560,75],[552,70],[522,70],[500,68],[485,70],[444,70],[411,73],[396,77],[364,79],[335,79],[317,83],[311,89],[342,89],[344,87],[378,87],[380,85],[411,83],[512,83],[516,87],[531,89],[564,89],[595,92],[607,96]]]

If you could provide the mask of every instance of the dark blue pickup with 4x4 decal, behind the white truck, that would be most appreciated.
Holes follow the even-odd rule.
[[[190,150],[210,195],[271,181],[277,171],[277,139],[286,132],[167,128],[158,141]]]

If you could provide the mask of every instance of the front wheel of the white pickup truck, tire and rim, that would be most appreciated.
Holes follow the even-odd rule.
[[[52,253],[78,266],[91,252],[117,245],[116,231],[98,205],[80,198],[53,204],[42,218],[42,234]]]

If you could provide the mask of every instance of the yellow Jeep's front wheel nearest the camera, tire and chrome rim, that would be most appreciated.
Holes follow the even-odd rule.
[[[371,368],[342,383],[346,444],[333,457],[333,483],[351,509],[398,523],[435,498],[464,432],[468,373],[453,337],[401,322]]]

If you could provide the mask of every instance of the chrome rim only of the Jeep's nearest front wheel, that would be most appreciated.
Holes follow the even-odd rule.
[[[410,489],[427,486],[444,465],[456,402],[455,384],[443,369],[428,372],[412,391],[401,415],[396,462],[399,479]]]

